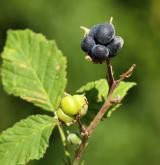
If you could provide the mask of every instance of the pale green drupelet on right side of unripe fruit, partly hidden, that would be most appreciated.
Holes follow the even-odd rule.
[[[87,98],[84,95],[74,95],[73,98],[79,105],[79,113],[81,116],[84,116],[87,113],[88,102]]]

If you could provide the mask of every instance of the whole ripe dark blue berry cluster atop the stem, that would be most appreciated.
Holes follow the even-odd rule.
[[[103,63],[107,58],[115,57],[123,44],[123,38],[115,36],[113,24],[103,23],[91,27],[82,40],[81,48],[93,62]]]

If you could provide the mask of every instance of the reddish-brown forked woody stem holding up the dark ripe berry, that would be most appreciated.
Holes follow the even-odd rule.
[[[120,75],[119,80],[114,80],[113,70],[112,70],[112,65],[110,64],[110,60],[107,60],[106,64],[107,64],[107,73],[108,73],[107,81],[108,81],[108,85],[109,85],[108,95],[107,95],[105,103],[103,104],[103,106],[101,107],[101,109],[99,110],[99,112],[97,113],[95,118],[91,121],[88,128],[85,129],[85,132],[83,132],[82,143],[80,144],[79,148],[76,151],[73,165],[79,165],[82,154],[84,152],[84,149],[87,146],[89,137],[91,136],[93,130],[96,128],[97,124],[100,122],[100,120],[102,119],[104,114],[107,112],[107,110],[111,106],[119,104],[121,102],[121,99],[112,100],[112,94],[122,80],[131,76],[134,68],[136,67],[136,65],[133,64],[126,72],[124,72]],[[80,122],[80,120],[79,120],[79,122]],[[82,127],[81,123],[79,123],[79,125],[80,125],[80,127]]]

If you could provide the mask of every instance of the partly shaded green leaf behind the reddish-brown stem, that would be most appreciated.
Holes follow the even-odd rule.
[[[112,98],[116,98],[117,96],[121,99],[127,94],[127,91],[135,85],[134,82],[121,82],[119,86],[115,89]],[[98,113],[100,108],[105,102],[108,93],[108,83],[105,79],[100,79],[95,82],[87,83],[86,85],[82,86],[77,93],[82,94],[84,93],[89,102],[89,108],[87,115],[83,118],[83,122],[89,124],[89,122],[95,117]],[[120,104],[114,105],[111,107],[106,116],[109,117],[111,113],[116,110]]]

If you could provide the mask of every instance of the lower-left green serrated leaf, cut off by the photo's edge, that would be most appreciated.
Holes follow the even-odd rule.
[[[55,127],[53,117],[30,116],[0,134],[0,164],[20,165],[43,157]]]

